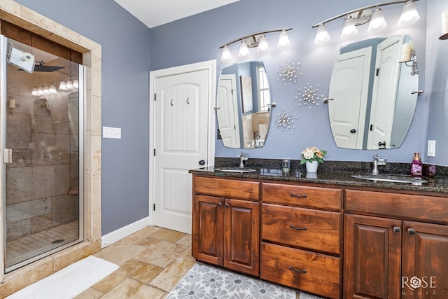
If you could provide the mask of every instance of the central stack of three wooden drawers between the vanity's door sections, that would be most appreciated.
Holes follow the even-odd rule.
[[[260,277],[341,294],[342,189],[262,183]]]

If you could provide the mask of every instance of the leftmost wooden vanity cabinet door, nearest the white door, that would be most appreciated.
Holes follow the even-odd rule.
[[[195,195],[193,203],[193,257],[206,263],[223,265],[224,199]]]

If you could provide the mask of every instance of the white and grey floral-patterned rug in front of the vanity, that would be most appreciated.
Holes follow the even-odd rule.
[[[318,299],[265,281],[196,263],[167,299]]]

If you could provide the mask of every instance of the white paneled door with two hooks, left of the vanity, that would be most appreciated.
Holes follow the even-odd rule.
[[[210,69],[154,82],[153,224],[191,233],[188,170],[209,164]]]

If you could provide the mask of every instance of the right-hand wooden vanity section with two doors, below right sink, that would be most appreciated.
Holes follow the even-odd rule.
[[[448,298],[448,198],[346,190],[345,211],[344,298]]]

